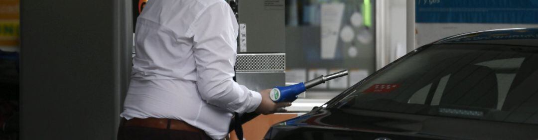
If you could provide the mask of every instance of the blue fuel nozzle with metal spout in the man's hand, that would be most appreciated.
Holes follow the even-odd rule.
[[[348,75],[347,69],[337,73],[329,74],[327,76],[321,75],[315,79],[306,82],[300,82],[291,86],[277,86],[271,89],[269,97],[271,97],[271,100],[273,100],[273,102],[293,102],[297,99],[297,95],[305,92],[307,89],[320,85],[321,83],[325,83],[325,81],[336,79],[345,75]]]

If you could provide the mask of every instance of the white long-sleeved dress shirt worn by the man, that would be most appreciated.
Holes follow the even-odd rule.
[[[222,139],[234,111],[260,104],[232,80],[238,25],[223,0],[148,1],[136,25],[122,117],[182,120]]]

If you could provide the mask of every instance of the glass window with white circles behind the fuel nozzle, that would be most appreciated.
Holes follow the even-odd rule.
[[[349,76],[308,90],[307,98],[316,98],[317,91],[323,94],[319,98],[330,99],[374,72],[374,5],[370,0],[286,1],[286,82],[348,69]]]

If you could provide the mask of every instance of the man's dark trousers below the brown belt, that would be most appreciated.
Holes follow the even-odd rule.
[[[157,129],[145,127],[125,127],[118,130],[118,140],[180,140],[180,139],[211,139],[199,132]]]

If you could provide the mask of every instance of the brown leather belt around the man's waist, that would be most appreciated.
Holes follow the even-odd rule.
[[[170,129],[180,131],[199,132],[206,134],[203,130],[194,127],[186,122],[173,120],[168,118],[132,118],[131,120],[123,120],[125,127],[146,127],[157,129]]]

